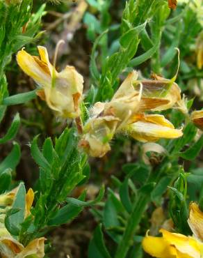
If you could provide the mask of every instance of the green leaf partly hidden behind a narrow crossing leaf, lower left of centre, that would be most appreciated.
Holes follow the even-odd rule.
[[[84,201],[86,199],[86,192],[83,192],[79,200]],[[63,208],[60,208],[58,212],[56,213],[56,216],[54,218],[51,218],[47,225],[49,226],[58,226],[65,224],[67,222],[70,222],[70,220],[73,220],[79,213],[83,211],[83,207],[81,206],[75,206],[73,204],[67,204],[63,206]]]

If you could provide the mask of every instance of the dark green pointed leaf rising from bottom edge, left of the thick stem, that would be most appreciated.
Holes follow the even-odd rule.
[[[101,231],[101,225],[95,229],[92,240],[88,248],[88,258],[111,258],[104,243],[104,236]]]

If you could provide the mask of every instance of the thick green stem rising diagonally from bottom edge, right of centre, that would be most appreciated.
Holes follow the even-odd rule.
[[[127,222],[127,227],[122,236],[122,240],[118,245],[117,252],[115,253],[115,258],[124,258],[127,255],[127,252],[130,246],[133,244],[133,236],[136,232],[136,229],[140,223],[142,215],[145,211],[147,203],[149,202],[150,194],[149,195],[140,195],[138,198],[136,205],[133,208],[133,212],[129,217]]]

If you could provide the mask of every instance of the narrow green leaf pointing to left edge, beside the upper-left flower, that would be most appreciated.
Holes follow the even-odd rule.
[[[2,104],[6,105],[6,106],[10,106],[10,105],[26,103],[26,102],[36,98],[36,91],[37,91],[37,89],[35,89],[34,91],[29,91],[26,93],[19,93],[17,95],[4,98]]]

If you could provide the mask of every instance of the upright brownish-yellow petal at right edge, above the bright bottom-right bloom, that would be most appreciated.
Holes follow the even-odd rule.
[[[203,241],[203,213],[195,202],[190,203],[190,215],[188,225],[194,236]]]

